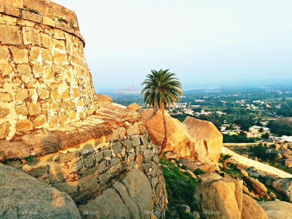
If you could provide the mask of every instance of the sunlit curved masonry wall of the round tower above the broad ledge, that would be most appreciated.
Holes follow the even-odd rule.
[[[70,23],[28,10],[0,4],[0,140],[98,108],[83,37]]]

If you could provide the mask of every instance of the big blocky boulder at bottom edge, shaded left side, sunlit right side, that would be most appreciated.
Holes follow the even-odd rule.
[[[209,219],[241,218],[242,181],[235,179],[200,179],[194,200]]]

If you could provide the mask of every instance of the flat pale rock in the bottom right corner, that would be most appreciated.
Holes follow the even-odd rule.
[[[292,218],[292,204],[284,201],[258,202],[266,211],[268,219]]]

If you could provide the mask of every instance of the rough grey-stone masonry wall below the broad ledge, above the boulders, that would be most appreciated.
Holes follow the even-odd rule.
[[[125,122],[116,135],[113,141],[89,139],[55,153],[5,164],[67,193],[77,205],[99,196],[131,169],[140,169],[152,187],[152,214],[164,218],[168,201],[159,168],[159,146],[152,143],[141,122]]]

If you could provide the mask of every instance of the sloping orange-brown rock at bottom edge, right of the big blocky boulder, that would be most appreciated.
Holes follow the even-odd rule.
[[[241,219],[267,219],[266,211],[250,196],[242,195]]]

